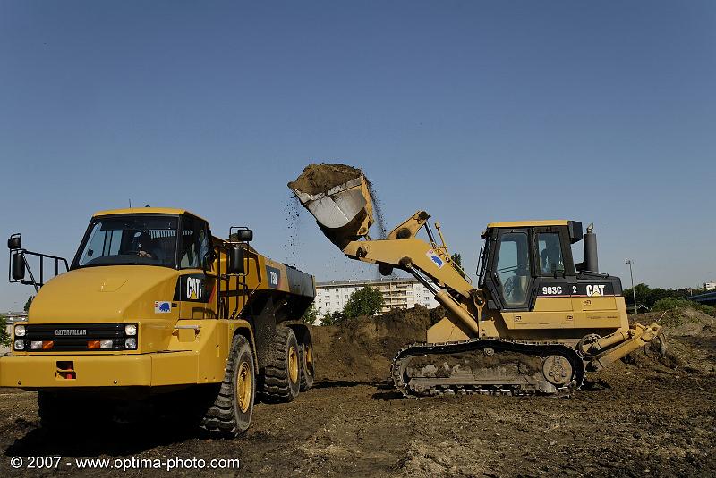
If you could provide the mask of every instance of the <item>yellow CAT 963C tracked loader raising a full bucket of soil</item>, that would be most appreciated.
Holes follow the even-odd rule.
[[[568,396],[588,371],[652,341],[663,350],[661,326],[629,325],[621,281],[599,272],[596,235],[592,227],[583,235],[581,222],[488,224],[474,286],[425,211],[385,239],[370,238],[370,183],[360,170],[311,164],[288,186],[345,256],[377,264],[384,275],[410,273],[445,308],[426,342],[406,345],[393,360],[392,379],[407,397]],[[580,240],[585,259],[575,264],[571,246]]]

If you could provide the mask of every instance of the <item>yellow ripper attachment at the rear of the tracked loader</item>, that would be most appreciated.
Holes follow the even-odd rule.
[[[592,372],[616,362],[639,348],[656,342],[661,355],[666,351],[661,325],[652,323],[649,326],[635,323],[628,331],[619,331],[603,339],[595,339],[591,343],[580,343],[577,348],[588,361],[587,370]]]

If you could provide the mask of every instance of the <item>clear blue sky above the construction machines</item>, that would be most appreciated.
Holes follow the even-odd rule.
[[[600,265],[716,278],[713,2],[0,2],[0,236],[73,256],[90,215],[186,207],[320,280],[373,277],[293,180],[362,167],[474,269],[499,220],[595,223]],[[6,266],[6,264],[4,265]],[[0,310],[31,289],[0,283]]]

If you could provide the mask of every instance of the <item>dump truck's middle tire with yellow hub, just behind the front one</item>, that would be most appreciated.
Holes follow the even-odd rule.
[[[301,390],[301,352],[294,331],[277,326],[274,352],[261,377],[261,397],[268,402],[290,402]]]

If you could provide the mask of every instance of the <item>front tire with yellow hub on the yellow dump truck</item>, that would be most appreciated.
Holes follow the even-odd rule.
[[[224,381],[201,418],[202,429],[226,438],[248,430],[256,396],[256,373],[249,340],[236,335],[226,360]]]

